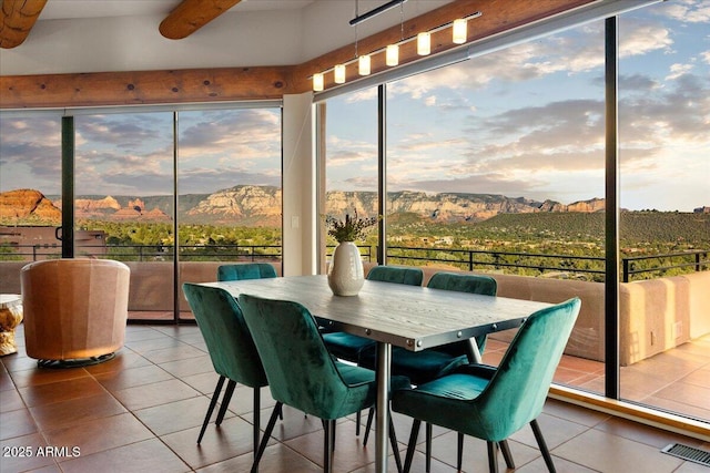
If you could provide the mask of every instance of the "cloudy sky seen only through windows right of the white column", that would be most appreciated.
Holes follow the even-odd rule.
[[[619,51],[622,207],[710,206],[710,0],[621,16]],[[597,21],[388,84],[388,189],[604,197],[604,58]],[[328,188],[377,188],[375,107],[328,101]]]

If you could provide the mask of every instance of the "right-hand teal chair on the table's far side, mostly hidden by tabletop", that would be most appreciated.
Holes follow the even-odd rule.
[[[427,284],[428,288],[452,290],[457,292],[480,294],[484,296],[495,296],[498,290],[496,280],[489,276],[468,275],[462,273],[436,273]],[[486,346],[486,336],[476,337],[475,340],[479,352],[483,353]],[[462,364],[474,362],[468,340],[430,348],[424,351],[409,351],[395,347],[392,350],[392,373],[406,376],[414,384],[422,384],[435,380],[450,372]],[[375,353],[363,353],[362,363],[371,368],[375,363]],[[365,438],[363,443],[367,443],[369,429],[372,426],[372,412],[367,418]],[[506,461],[511,462],[507,444],[501,445],[506,453]],[[458,438],[458,470],[462,466],[464,451],[464,435]],[[430,471],[432,462],[432,424],[426,424],[426,471]]]

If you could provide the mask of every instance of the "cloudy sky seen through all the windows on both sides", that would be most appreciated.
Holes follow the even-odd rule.
[[[710,0],[626,13],[619,39],[621,206],[710,206]],[[389,191],[604,197],[604,21],[393,82]],[[376,89],[327,101],[328,189],[376,191]],[[60,194],[60,126],[0,122],[0,191]],[[172,113],[75,133],[78,195],[172,193]],[[179,143],[180,194],[281,183],[280,109],[181,112]]]

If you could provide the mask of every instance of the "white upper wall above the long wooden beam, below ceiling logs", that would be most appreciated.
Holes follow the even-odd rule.
[[[404,18],[449,2],[409,0]],[[381,4],[382,0],[362,0],[359,11]],[[40,14],[22,44],[0,49],[0,75],[300,64],[354,42],[356,32],[348,24],[354,12],[354,0],[256,11],[240,11],[237,4],[182,40],[163,38],[158,28],[164,14],[153,12],[51,20]],[[374,34],[399,21],[395,8],[358,25],[357,35]]]

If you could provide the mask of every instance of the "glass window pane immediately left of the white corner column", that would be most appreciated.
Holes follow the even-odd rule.
[[[278,267],[281,109],[181,112],[178,150],[180,286],[222,263]]]

